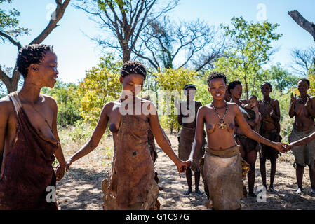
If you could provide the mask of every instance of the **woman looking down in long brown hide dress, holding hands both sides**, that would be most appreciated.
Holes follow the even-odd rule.
[[[98,146],[109,123],[109,130],[113,133],[114,158],[110,179],[102,183],[104,209],[159,207],[159,187],[154,181],[153,161],[147,143],[149,129],[178,171],[185,172],[187,167],[175,155],[164,136],[154,104],[136,97],[142,90],[146,74],[145,66],[140,62],[123,64],[119,78],[123,94],[115,102],[105,104],[91,139],[67,162],[69,169],[72,162],[91,153]]]

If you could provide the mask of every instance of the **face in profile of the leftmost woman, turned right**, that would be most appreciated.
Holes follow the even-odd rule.
[[[33,83],[41,87],[54,87],[58,78],[57,56],[47,51],[39,64],[30,64],[29,72],[25,79],[32,78]]]

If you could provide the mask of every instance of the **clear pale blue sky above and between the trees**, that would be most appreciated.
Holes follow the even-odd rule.
[[[1,9],[15,8],[20,11],[20,26],[30,29],[28,36],[18,38],[22,45],[27,45],[48,25],[49,18],[55,9],[54,0],[13,0],[13,3],[1,4]],[[280,62],[290,70],[293,48],[306,49],[314,44],[314,40],[307,31],[302,29],[290,18],[288,11],[298,10],[304,18],[315,22],[314,0],[180,0],[180,4],[168,15],[177,20],[201,19],[209,25],[229,25],[232,17],[242,16],[245,20],[279,23],[277,33],[283,36],[273,43],[279,50],[272,56],[268,66]],[[58,56],[59,79],[65,83],[77,83],[85,77],[86,70],[96,66],[102,51],[91,41],[89,36],[105,35],[98,28],[89,15],[69,5],[65,15],[58,22],[58,27],[43,41],[53,45]],[[17,48],[10,43],[0,43],[1,66],[13,67],[17,55]]]

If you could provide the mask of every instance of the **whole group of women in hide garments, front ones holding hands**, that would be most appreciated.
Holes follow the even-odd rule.
[[[125,62],[119,78],[124,94],[105,104],[91,139],[66,162],[58,137],[57,104],[52,97],[40,93],[42,87],[53,87],[56,83],[57,56],[48,45],[27,45],[18,53],[17,64],[25,78],[22,89],[0,99],[0,209],[58,209],[57,202],[47,200],[47,187],[55,187],[73,162],[91,153],[107,127],[112,132],[114,155],[109,178],[102,182],[104,209],[159,209],[157,198],[161,188],[154,170],[156,152],[149,149],[152,148],[149,135],[175,163],[178,172],[186,173],[186,195],[192,193],[192,170],[195,191],[203,194],[199,190],[202,176],[213,209],[241,208],[244,165],[249,167],[248,196],[255,197],[257,153],[266,188],[265,163],[267,159],[271,161],[268,188],[271,192],[275,191],[277,155],[292,150],[297,193],[303,191],[302,174],[307,165],[315,193],[315,99],[307,95],[307,79],[297,84],[300,96],[291,96],[289,115],[295,116],[295,123],[290,144],[281,143],[279,102],[269,97],[272,92],[269,83],[261,85],[262,100],[250,96],[246,101],[241,99],[239,81],[227,85],[223,73],[210,73],[207,83],[213,101],[204,106],[192,100],[196,87],[186,85],[187,101],[181,102],[179,109],[185,108],[189,114],[178,115],[182,130],[177,156],[159,124],[154,103],[137,97],[147,76],[145,66]],[[136,113],[139,104],[147,113]],[[133,106],[128,113],[121,113],[126,105]],[[189,110],[191,105],[194,110]],[[194,119],[185,122],[189,116]],[[59,162],[56,170],[52,167],[55,158]]]

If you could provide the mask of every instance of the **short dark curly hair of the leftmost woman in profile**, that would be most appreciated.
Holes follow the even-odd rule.
[[[53,52],[53,47],[44,44],[26,45],[19,50],[16,64],[18,66],[18,71],[24,78],[27,77],[29,65],[39,64],[48,51]]]

